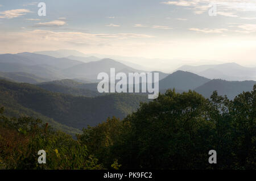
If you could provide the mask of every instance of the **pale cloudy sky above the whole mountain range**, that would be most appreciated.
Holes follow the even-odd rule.
[[[256,0],[0,1],[0,53],[57,49],[256,66]]]

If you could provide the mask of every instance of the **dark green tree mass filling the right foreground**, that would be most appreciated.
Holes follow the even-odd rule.
[[[168,90],[122,121],[84,129],[79,142],[109,169],[117,159],[121,169],[255,169],[255,92],[256,85],[230,101]]]

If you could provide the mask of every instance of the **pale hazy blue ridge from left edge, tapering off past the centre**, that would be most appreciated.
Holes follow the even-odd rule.
[[[55,58],[36,53],[0,54],[0,71],[24,72],[51,80],[57,79],[92,79],[96,82],[101,72],[110,72],[110,68],[118,71],[142,72],[130,68],[121,62],[104,58],[98,61],[81,62],[68,58]],[[126,73],[126,72],[125,72]]]

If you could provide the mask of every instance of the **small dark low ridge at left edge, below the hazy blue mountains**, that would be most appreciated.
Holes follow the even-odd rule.
[[[14,82],[39,83],[50,81],[50,79],[38,77],[24,72],[0,72],[0,78],[9,79]]]

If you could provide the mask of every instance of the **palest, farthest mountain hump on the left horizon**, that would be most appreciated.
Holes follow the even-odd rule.
[[[81,53],[77,50],[68,50],[68,49],[60,49],[60,50],[48,50],[48,51],[40,51],[34,52],[36,54],[44,54],[56,58],[63,58],[68,56],[77,56],[77,57],[86,57],[86,54]]]

